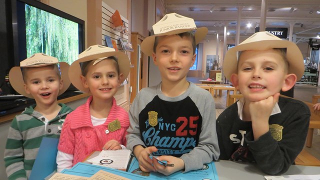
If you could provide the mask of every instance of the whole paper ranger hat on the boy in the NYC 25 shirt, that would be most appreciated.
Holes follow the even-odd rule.
[[[164,17],[152,25],[154,35],[146,37],[141,42],[141,50],[148,56],[152,55],[154,39],[156,36],[178,34],[190,30],[195,30],[195,44],[199,43],[208,33],[206,27],[196,28],[194,20],[177,13],[165,14]]]

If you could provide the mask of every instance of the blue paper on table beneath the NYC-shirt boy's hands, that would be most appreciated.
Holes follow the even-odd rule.
[[[170,167],[168,167],[170,168]],[[184,180],[184,179],[214,179],[218,180],[218,175],[216,172],[216,168],[214,162],[210,162],[203,165],[202,169],[192,170],[186,173],[182,173],[181,171],[174,172],[171,175],[165,176],[158,172],[143,172],[139,168],[139,163],[135,157],[132,158],[130,167],[128,172],[139,174],[140,176],[147,177],[148,179],[174,179],[174,180]]]

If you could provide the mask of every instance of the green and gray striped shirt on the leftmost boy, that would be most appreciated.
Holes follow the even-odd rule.
[[[60,137],[63,121],[72,109],[63,103],[58,104],[61,109],[51,120],[35,111],[35,105],[26,107],[13,118],[4,150],[8,179],[28,179],[42,137]]]

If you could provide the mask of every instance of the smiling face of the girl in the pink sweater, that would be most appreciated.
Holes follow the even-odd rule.
[[[81,75],[82,84],[89,88],[93,98],[110,99],[120,85],[122,74],[116,70],[113,59],[104,59],[90,65],[85,76]]]

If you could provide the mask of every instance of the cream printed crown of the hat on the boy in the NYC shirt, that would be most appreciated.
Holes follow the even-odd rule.
[[[154,34],[163,34],[178,29],[196,29],[194,20],[177,13],[165,14],[157,23],[152,25]],[[185,30],[184,30],[185,31]]]

